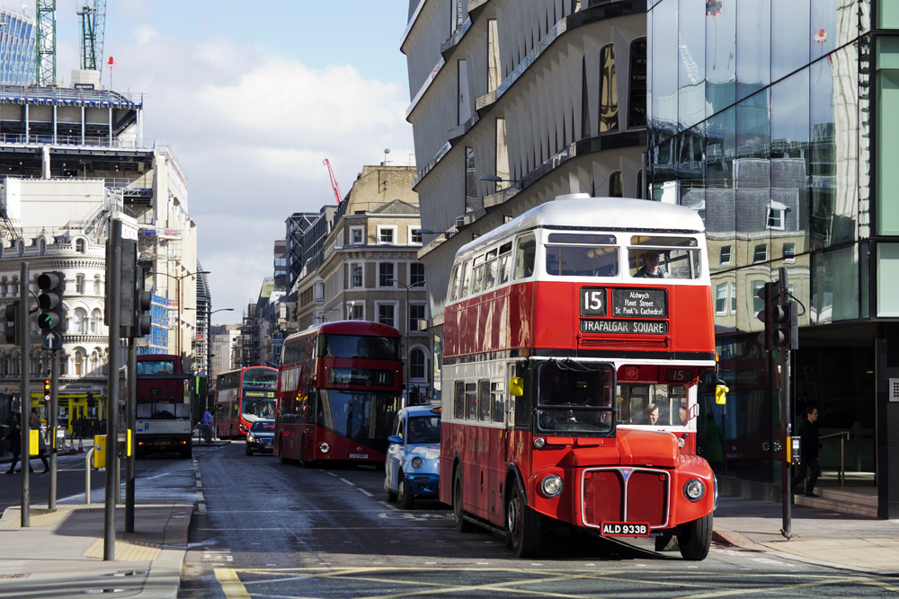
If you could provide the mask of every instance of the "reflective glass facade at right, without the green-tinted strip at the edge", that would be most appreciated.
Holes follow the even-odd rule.
[[[756,294],[786,268],[800,327],[867,315],[868,69],[859,60],[870,46],[870,2],[650,4],[649,190],[705,220],[720,374],[731,390],[720,406],[711,381],[701,388],[700,427],[724,428],[726,474],[779,482],[776,362],[756,340]],[[860,372],[873,359],[867,351],[852,357]],[[865,468],[870,382],[837,380],[841,369],[824,367],[831,353],[804,363],[793,352],[795,408],[821,407],[822,434],[852,423],[847,460]]]

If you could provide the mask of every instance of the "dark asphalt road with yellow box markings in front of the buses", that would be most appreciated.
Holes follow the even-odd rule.
[[[311,468],[194,453],[201,495],[180,597],[868,597],[895,581],[715,546],[708,559],[565,535],[516,559],[494,533],[458,533],[449,507],[388,504],[372,467]]]

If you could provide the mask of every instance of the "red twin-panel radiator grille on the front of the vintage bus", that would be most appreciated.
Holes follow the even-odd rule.
[[[627,484],[622,470],[630,471]],[[668,473],[627,468],[585,471],[582,497],[583,523],[588,526],[603,522],[663,526],[668,520]]]

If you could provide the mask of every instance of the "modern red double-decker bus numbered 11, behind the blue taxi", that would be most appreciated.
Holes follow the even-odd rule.
[[[281,350],[274,453],[281,462],[383,466],[403,395],[400,334],[378,322],[326,322]]]

